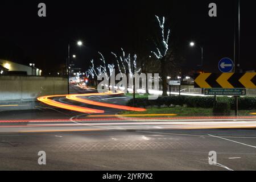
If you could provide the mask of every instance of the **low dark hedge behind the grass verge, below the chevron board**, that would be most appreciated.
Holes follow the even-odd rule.
[[[217,97],[217,101],[221,103],[229,103],[230,108],[235,108],[234,97]],[[214,97],[200,97],[200,96],[167,96],[159,97],[157,100],[148,100],[148,98],[136,98],[135,107],[147,106],[187,106],[187,107],[201,107],[213,108],[215,104]],[[127,102],[128,106],[133,106],[133,99]],[[238,109],[256,109],[256,97],[239,97]]]

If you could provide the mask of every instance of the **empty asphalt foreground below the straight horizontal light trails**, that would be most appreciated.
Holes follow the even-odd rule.
[[[256,169],[256,135],[248,129],[1,133],[0,138],[1,170]],[[46,165],[38,164],[39,151],[46,152]],[[208,163],[209,151],[217,152],[217,165]]]

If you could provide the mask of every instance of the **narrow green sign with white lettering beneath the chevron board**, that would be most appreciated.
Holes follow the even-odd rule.
[[[204,89],[206,96],[245,96],[246,89]]]

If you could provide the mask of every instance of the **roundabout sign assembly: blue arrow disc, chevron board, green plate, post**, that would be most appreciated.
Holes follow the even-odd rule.
[[[233,63],[222,59],[219,69],[221,72],[232,71]],[[245,96],[246,89],[256,89],[256,73],[201,73],[195,76],[195,88],[204,88],[204,94],[208,96],[234,96],[237,116],[238,97]]]

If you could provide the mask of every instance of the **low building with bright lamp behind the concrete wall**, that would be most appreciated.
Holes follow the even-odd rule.
[[[23,65],[0,59],[0,73],[1,75],[41,76],[42,70],[36,68],[35,64]]]

